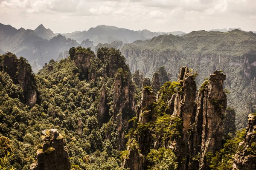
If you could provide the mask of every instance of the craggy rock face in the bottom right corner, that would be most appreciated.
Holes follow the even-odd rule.
[[[250,114],[246,127],[246,136],[239,144],[240,150],[236,152],[233,170],[255,170],[256,169],[256,114]]]

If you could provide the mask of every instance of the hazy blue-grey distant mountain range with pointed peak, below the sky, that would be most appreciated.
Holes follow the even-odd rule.
[[[135,40],[148,40],[162,34],[186,34],[175,32],[151,32],[148,30],[133,31],[115,26],[97,26],[88,31],[75,31],[67,34],[54,34],[42,24],[35,30],[16,29],[0,23],[0,54],[12,52],[17,56],[26,56],[35,73],[50,59],[61,59],[73,46],[94,47],[99,43],[122,41],[122,44]],[[62,56],[62,57],[61,57]]]

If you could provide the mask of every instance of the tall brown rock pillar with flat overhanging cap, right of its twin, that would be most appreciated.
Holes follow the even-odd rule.
[[[193,154],[190,157],[194,159],[190,162],[190,169],[197,164],[199,169],[207,169],[207,153],[215,154],[222,148],[224,113],[227,108],[227,96],[223,91],[225,79],[225,74],[214,71],[209,81],[205,81],[198,91],[195,123],[192,126],[194,139],[190,147]],[[195,161],[198,153],[200,158]]]

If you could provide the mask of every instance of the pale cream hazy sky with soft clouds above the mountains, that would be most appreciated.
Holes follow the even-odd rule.
[[[0,0],[0,23],[53,32],[98,25],[133,30],[237,28],[256,31],[256,0]]]

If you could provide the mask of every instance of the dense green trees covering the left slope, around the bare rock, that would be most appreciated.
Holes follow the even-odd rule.
[[[87,78],[73,61],[78,54],[91,55]],[[109,62],[112,54],[117,57],[113,66]],[[125,82],[130,74],[125,58],[118,50],[102,48],[97,56],[105,58],[100,60],[90,48],[78,47],[70,49],[68,59],[51,60],[32,80],[38,87],[38,100],[32,108],[24,104],[20,85],[0,71],[0,157],[8,150],[15,154],[12,156],[15,162],[11,161],[14,168],[29,170],[36,151],[41,149],[41,131],[56,128],[62,134],[59,137],[67,142],[73,168],[120,170],[121,160],[116,150],[117,125],[113,121],[113,83],[115,75]],[[1,61],[0,56],[0,64]],[[49,65],[53,68],[51,71]],[[111,69],[106,74],[108,67]],[[96,75],[94,81],[90,80],[92,74]],[[99,126],[97,108],[103,86],[109,120]],[[77,133],[79,118],[83,122],[82,134]],[[105,136],[109,136],[108,139]],[[50,147],[45,152],[52,151],[54,149]]]

